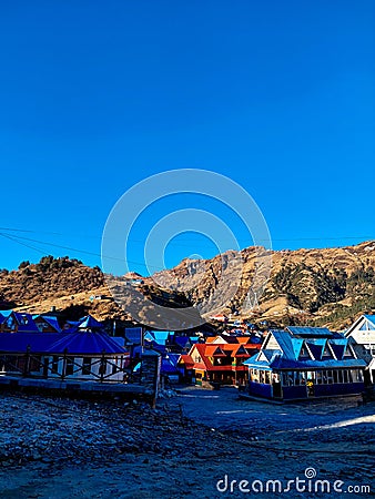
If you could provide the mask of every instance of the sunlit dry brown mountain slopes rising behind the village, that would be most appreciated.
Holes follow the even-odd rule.
[[[318,324],[342,328],[358,314],[375,308],[375,242],[325,249],[270,252],[272,269],[260,306],[245,314],[253,320],[271,319],[275,324]],[[270,254],[268,253],[268,254]],[[176,306],[181,294],[199,304],[210,297],[222,278],[222,258],[229,275],[239,264],[229,264],[229,252],[209,261],[184,259],[171,271],[144,278],[143,292],[159,303]],[[241,252],[242,277],[235,297],[222,312],[240,310],[253,283],[255,248]],[[155,281],[164,291],[158,289]],[[172,285],[175,292],[165,293]],[[92,295],[109,299],[90,301]],[[179,297],[180,295],[180,297]],[[32,313],[55,306],[63,310],[84,307],[99,319],[130,317],[112,299],[100,268],[84,266],[69,258],[44,257],[39,264],[20,271],[0,272],[0,299]]]

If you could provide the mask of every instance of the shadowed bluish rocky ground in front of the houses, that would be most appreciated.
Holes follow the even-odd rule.
[[[307,468],[331,488],[335,480],[344,491],[369,486],[369,493],[354,496],[372,497],[374,409],[358,399],[251,403],[234,389],[184,388],[156,409],[0,394],[0,497],[246,497],[241,480],[260,480],[264,489],[267,480],[281,480],[284,487],[305,478]],[[295,489],[252,495],[342,496]]]

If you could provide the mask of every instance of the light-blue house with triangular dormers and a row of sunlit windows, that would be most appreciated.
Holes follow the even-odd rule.
[[[347,338],[326,328],[272,329],[244,365],[253,397],[293,400],[364,390],[366,363],[357,358]]]

